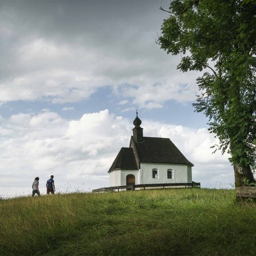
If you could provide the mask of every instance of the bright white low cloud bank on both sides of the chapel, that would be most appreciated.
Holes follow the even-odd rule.
[[[202,186],[227,187],[233,181],[227,156],[212,154],[216,139],[206,129],[143,120],[145,136],[170,138],[193,162],[193,180]],[[121,147],[129,147],[132,121],[108,110],[68,121],[55,112],[13,115],[0,126],[0,194],[30,193],[40,177],[43,190],[54,175],[58,190],[89,190],[109,185],[108,169]],[[70,185],[67,185],[70,184]]]

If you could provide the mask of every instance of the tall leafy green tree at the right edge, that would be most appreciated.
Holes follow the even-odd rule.
[[[228,152],[235,186],[254,181],[256,168],[256,4],[254,0],[172,0],[163,20],[161,48],[181,54],[183,72],[204,71],[195,111]]]

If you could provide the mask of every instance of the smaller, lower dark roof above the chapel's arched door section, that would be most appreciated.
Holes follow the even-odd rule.
[[[108,172],[113,170],[138,170],[132,148],[121,148]]]

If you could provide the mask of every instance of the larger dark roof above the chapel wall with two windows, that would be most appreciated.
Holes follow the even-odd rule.
[[[168,138],[144,137],[144,142],[136,142],[131,136],[131,144],[134,143],[138,160],[142,163],[180,163],[189,164],[189,162],[180,150]]]

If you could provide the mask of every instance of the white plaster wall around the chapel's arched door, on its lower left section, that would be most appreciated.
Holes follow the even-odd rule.
[[[132,174],[135,176],[135,185],[140,184],[140,176],[138,170],[115,170],[110,174],[110,186],[125,186],[126,176]]]

